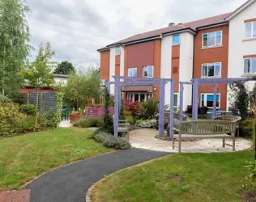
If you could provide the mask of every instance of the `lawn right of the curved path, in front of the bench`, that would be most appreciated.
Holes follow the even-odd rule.
[[[240,201],[252,151],[171,154],[110,175],[92,201]]]

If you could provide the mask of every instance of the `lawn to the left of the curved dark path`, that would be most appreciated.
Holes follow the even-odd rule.
[[[55,167],[112,150],[92,135],[83,128],[57,128],[0,139],[0,191],[18,189]]]

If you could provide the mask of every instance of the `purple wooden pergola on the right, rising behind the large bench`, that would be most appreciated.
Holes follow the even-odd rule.
[[[180,117],[179,119],[182,120],[183,89],[185,84],[193,86],[192,118],[193,120],[198,120],[198,86],[207,85],[207,86],[214,87],[213,116],[216,116],[217,84],[228,84],[233,82],[248,82],[253,80],[254,78],[192,78],[191,82],[180,82]]]

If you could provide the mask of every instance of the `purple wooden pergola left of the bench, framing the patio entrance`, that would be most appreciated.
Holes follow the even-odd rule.
[[[173,128],[173,104],[174,104],[174,78],[132,78],[123,76],[113,76],[114,82],[106,82],[108,90],[110,85],[113,84],[114,88],[114,137],[118,137],[118,115],[121,109],[122,103],[122,87],[123,86],[139,86],[139,85],[160,85],[160,104],[159,104],[159,135],[164,134],[164,95],[165,95],[165,85],[170,82],[170,115],[169,115],[169,125]],[[120,81],[120,80],[123,81]],[[173,130],[169,130],[169,136],[173,137]]]

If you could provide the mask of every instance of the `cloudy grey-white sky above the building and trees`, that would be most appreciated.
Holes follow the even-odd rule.
[[[100,65],[98,48],[169,23],[228,13],[245,0],[27,0],[31,53],[50,42],[53,61]]]

